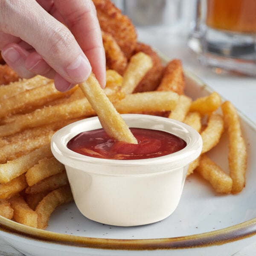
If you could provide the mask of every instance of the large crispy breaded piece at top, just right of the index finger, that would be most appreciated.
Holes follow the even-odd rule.
[[[110,33],[127,58],[136,47],[137,33],[131,20],[110,0],[93,0],[97,17],[103,31]]]

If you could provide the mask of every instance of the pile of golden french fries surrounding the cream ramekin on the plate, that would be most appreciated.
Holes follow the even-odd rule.
[[[111,66],[104,93],[116,111],[160,115],[191,125],[201,134],[203,149],[189,165],[187,175],[198,173],[220,194],[241,192],[245,186],[247,149],[234,106],[222,102],[216,92],[192,100],[184,94],[186,84],[180,60],[171,60],[160,68],[156,53],[149,46],[140,45],[127,57],[113,37],[103,35],[108,42],[104,45],[107,66]],[[77,85],[60,93],[52,80],[42,76],[0,85],[3,217],[45,229],[55,208],[73,201],[65,168],[53,157],[50,140],[63,126],[96,115],[81,88]],[[104,114],[108,122],[111,116]],[[229,137],[229,170],[222,170],[208,155],[225,130]]]

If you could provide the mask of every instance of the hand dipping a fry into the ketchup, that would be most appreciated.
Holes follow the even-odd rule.
[[[0,0],[0,50],[21,77],[46,76],[57,90],[69,90],[91,71],[105,86],[105,52],[91,0]]]

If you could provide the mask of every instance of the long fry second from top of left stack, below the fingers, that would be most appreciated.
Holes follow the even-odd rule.
[[[56,90],[54,82],[49,81],[49,83],[42,86],[26,90],[8,99],[3,99],[0,102],[0,117],[39,107],[54,99],[64,98],[73,93],[74,90],[76,90],[75,87],[61,93]]]

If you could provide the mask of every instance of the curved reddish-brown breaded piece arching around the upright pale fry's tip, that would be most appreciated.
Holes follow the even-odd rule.
[[[161,77],[163,74],[163,65],[160,57],[157,55],[149,45],[137,42],[134,54],[137,52],[144,52],[149,55],[153,62],[153,67],[145,74],[142,81],[137,85],[134,93],[146,92],[155,90],[160,84]]]

